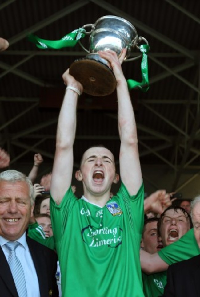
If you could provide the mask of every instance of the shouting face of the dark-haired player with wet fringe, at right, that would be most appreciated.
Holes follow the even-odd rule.
[[[188,217],[181,209],[169,209],[162,218],[160,233],[163,246],[172,244],[181,238],[190,229]]]

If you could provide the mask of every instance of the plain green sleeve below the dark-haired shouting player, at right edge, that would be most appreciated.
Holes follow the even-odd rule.
[[[163,261],[171,265],[173,263],[190,259],[200,254],[193,228],[183,235],[178,241],[162,248],[158,255]]]

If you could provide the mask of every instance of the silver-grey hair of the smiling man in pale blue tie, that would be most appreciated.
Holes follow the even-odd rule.
[[[6,170],[0,173],[0,181],[6,182],[26,182],[29,187],[29,197],[31,205],[34,205],[35,195],[33,184],[25,174],[17,170]]]

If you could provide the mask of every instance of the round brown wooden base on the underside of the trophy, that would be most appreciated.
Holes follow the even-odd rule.
[[[86,94],[106,96],[114,92],[116,88],[114,73],[109,68],[108,61],[107,65],[102,62],[86,57],[71,64],[70,74],[83,85],[83,92]]]

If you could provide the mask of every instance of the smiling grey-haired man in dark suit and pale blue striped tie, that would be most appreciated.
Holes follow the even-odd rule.
[[[26,236],[33,208],[30,179],[16,170],[0,173],[1,296],[58,296],[55,252]]]

